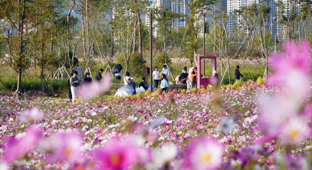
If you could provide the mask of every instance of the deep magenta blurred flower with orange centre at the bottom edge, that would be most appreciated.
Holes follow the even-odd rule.
[[[96,149],[92,157],[100,163],[98,170],[124,170],[137,163],[138,150],[131,141],[110,139],[103,149]]]

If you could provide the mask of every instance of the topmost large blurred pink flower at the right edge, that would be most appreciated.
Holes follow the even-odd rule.
[[[302,99],[310,87],[309,71],[311,68],[310,44],[287,43],[284,46],[285,54],[273,56],[272,64],[274,75],[269,78],[269,85],[286,87],[288,95],[293,101]],[[286,94],[286,95],[287,95]]]

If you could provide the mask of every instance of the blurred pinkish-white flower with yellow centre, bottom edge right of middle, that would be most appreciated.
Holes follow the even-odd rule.
[[[222,163],[223,147],[212,139],[192,141],[184,150],[183,168],[187,170],[215,170]]]

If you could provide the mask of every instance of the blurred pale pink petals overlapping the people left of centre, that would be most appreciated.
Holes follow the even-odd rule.
[[[90,100],[97,97],[100,94],[109,90],[112,84],[112,75],[103,75],[102,83],[95,81],[94,83],[84,84],[81,89],[78,90],[78,95],[85,100]]]

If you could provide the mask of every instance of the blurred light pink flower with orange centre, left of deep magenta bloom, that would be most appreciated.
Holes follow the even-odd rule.
[[[48,161],[57,160],[67,161],[73,166],[75,161],[81,157],[80,147],[82,139],[77,132],[56,133],[46,141],[42,142],[41,147],[51,154],[47,157]]]

